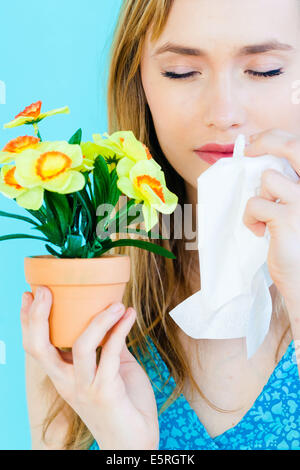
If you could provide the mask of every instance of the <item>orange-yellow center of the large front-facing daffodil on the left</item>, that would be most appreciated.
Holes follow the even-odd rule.
[[[72,165],[72,160],[62,152],[45,152],[36,162],[36,173],[43,180],[51,180],[64,173]]]

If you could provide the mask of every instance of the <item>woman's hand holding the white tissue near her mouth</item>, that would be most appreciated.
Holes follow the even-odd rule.
[[[300,136],[270,129],[250,137],[245,156],[264,154],[286,158],[300,176]],[[266,226],[269,229],[268,269],[289,309],[296,343],[300,341],[300,182],[265,170],[260,193],[249,199],[243,222],[258,237],[264,236]]]

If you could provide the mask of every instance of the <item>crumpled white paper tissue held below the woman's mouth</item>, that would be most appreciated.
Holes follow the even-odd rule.
[[[201,290],[169,312],[190,337],[246,337],[247,357],[262,344],[272,316],[273,284],[267,267],[270,234],[257,237],[243,223],[247,201],[259,195],[261,175],[275,169],[294,182],[286,158],[245,157],[245,137],[232,158],[221,158],[197,180],[197,228]],[[275,201],[279,202],[279,200]],[[200,288],[200,279],[199,279]]]

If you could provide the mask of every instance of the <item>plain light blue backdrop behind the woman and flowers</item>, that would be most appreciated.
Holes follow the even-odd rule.
[[[79,127],[84,140],[107,131],[108,48],[122,0],[10,0],[1,4],[0,148],[32,134],[31,127],[2,130],[25,106],[70,114],[39,125],[43,139],[66,140]],[[4,101],[4,86],[6,99]],[[26,215],[0,194],[0,210]],[[0,218],[0,235],[30,233],[29,224]],[[38,240],[0,242],[0,449],[30,449],[24,351],[19,320],[25,256],[45,254]],[[6,350],[4,356],[4,346]],[[3,364],[5,359],[5,364]]]

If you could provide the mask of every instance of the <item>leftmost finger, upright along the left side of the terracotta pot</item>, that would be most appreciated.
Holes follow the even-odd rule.
[[[55,383],[65,381],[70,366],[65,363],[49,340],[49,314],[52,305],[51,291],[39,287],[29,311],[27,352],[31,354]]]

